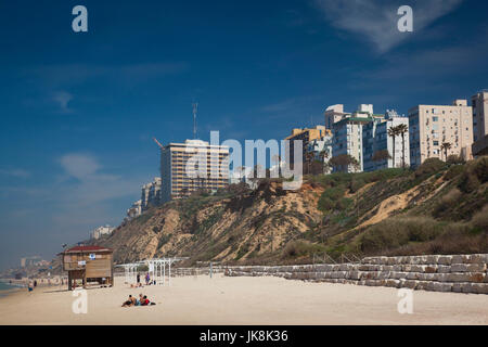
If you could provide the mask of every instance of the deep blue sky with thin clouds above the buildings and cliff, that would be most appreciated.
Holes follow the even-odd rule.
[[[89,31],[72,30],[88,9]],[[399,33],[409,4],[414,31]],[[117,226],[152,141],[282,139],[328,105],[376,113],[488,88],[480,0],[1,1],[0,268]]]

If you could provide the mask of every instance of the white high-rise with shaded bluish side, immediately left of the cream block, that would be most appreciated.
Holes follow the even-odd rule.
[[[393,110],[387,110],[385,119],[381,121],[371,121],[363,126],[362,154],[364,171],[401,167],[403,160],[406,167],[410,166],[409,133],[404,133],[403,137],[395,137],[395,151],[394,139],[388,136],[388,130],[400,124],[408,127],[409,118],[398,115]]]

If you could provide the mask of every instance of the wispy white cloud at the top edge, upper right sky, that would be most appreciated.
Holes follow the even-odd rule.
[[[314,0],[334,27],[365,37],[383,53],[412,35],[422,33],[437,18],[452,12],[464,0],[413,0],[413,33],[400,33],[398,8],[403,0]]]

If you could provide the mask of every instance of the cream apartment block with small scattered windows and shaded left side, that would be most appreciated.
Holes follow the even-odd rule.
[[[418,167],[427,158],[460,155],[471,159],[473,144],[473,108],[466,100],[452,105],[418,105],[409,110],[410,163]]]

